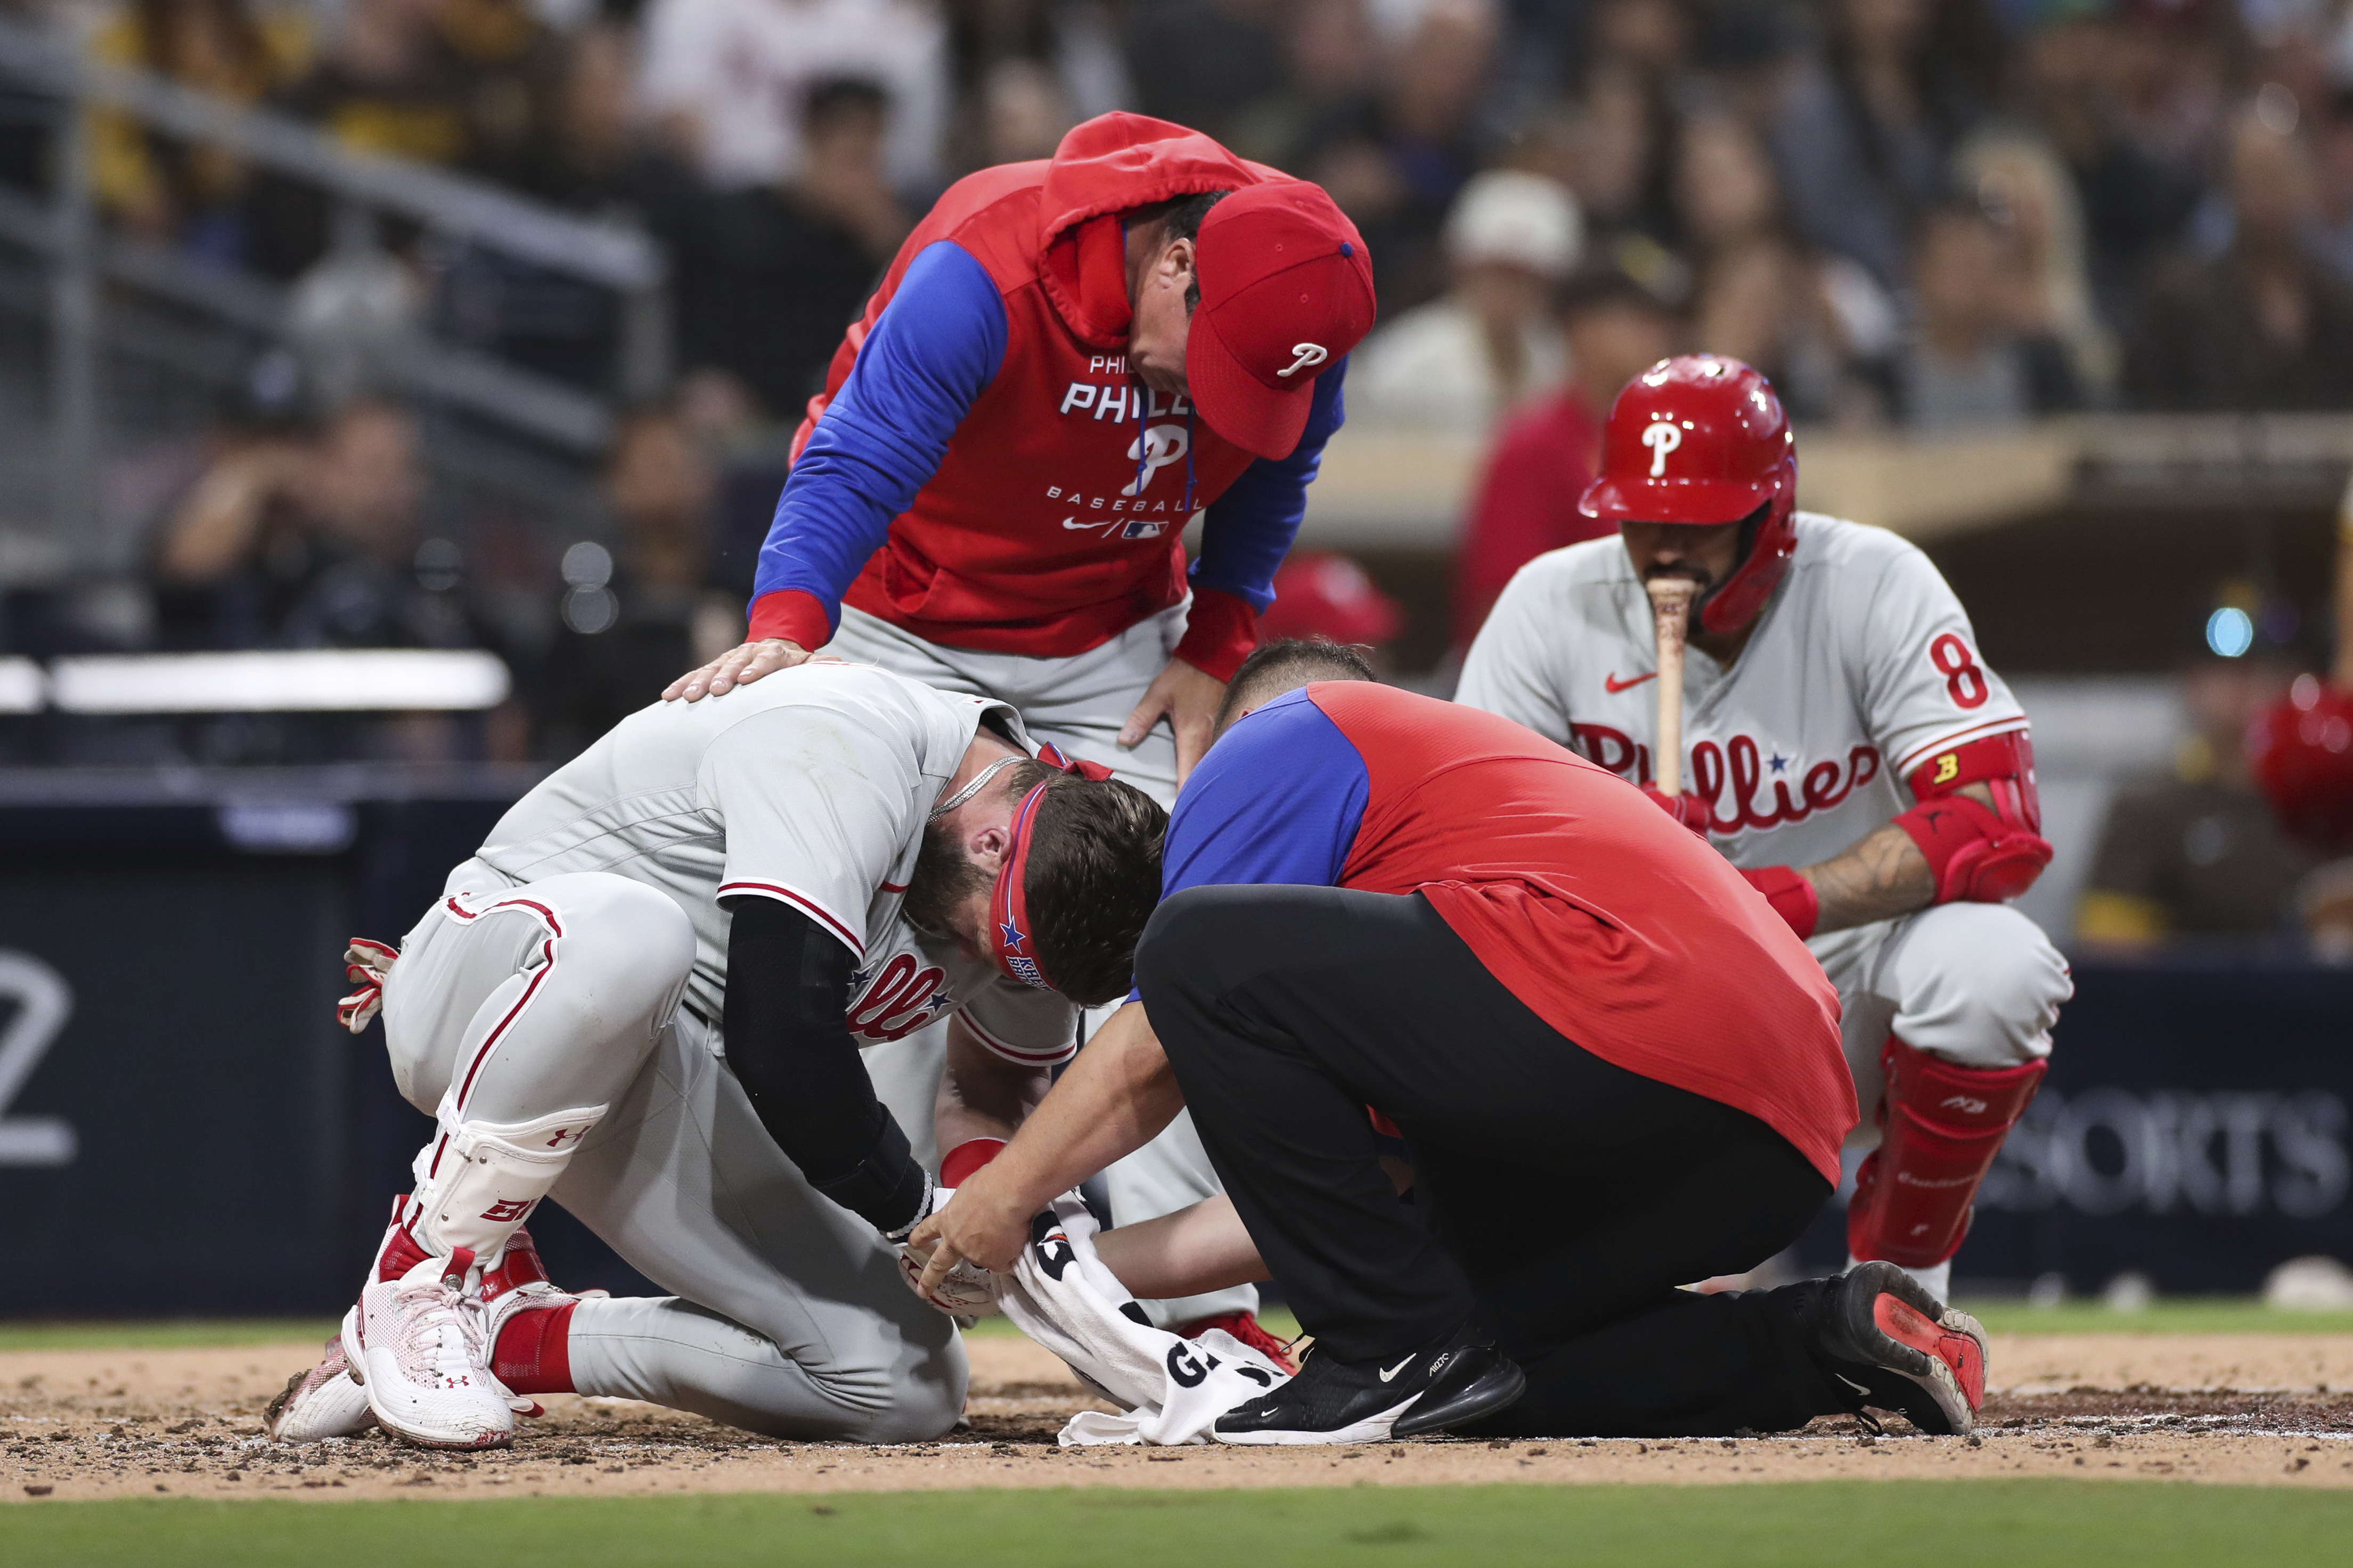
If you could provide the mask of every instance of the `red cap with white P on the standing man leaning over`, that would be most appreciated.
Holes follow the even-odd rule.
[[[1184,374],[1209,428],[1287,458],[1308,428],[1320,367],[1372,331],[1372,256],[1322,186],[1242,186],[1200,221],[1200,306]]]

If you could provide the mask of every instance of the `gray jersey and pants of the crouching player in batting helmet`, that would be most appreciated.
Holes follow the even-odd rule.
[[[1619,538],[1541,555],[1471,644],[1457,701],[1652,783],[1657,623]],[[1814,865],[1911,806],[1939,750],[2024,731],[1977,656],[1960,599],[1911,543],[1798,512],[1788,576],[1727,670],[1692,646],[1682,778],[1734,865]],[[2049,1053],[2066,961],[2009,905],[1951,903],[1817,936],[1838,985],[1857,1098],[1875,1105],[1887,1034],[1972,1067]],[[1871,1117],[1854,1143],[1878,1143]]]

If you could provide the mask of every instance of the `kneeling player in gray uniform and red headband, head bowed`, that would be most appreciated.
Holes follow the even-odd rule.
[[[965,1352],[894,1246],[941,1190],[859,1048],[951,1020],[939,1143],[1000,1147],[1160,891],[1160,806],[1033,750],[1005,703],[868,665],[656,703],[522,797],[398,961],[355,945],[346,1023],[381,999],[438,1128],[273,1436],[489,1448],[541,1392],[946,1432]],[[518,1229],[548,1194],[675,1295],[555,1291]]]

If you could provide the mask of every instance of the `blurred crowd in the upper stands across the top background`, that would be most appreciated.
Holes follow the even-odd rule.
[[[115,0],[87,38],[628,214],[682,367],[772,421],[948,181],[1111,108],[1332,190],[1379,273],[1377,423],[1572,386],[1595,275],[1809,421],[2353,407],[2341,0]],[[94,129],[120,226],[287,277],[327,254],[315,193]],[[600,374],[595,301],[431,249],[442,327]]]

